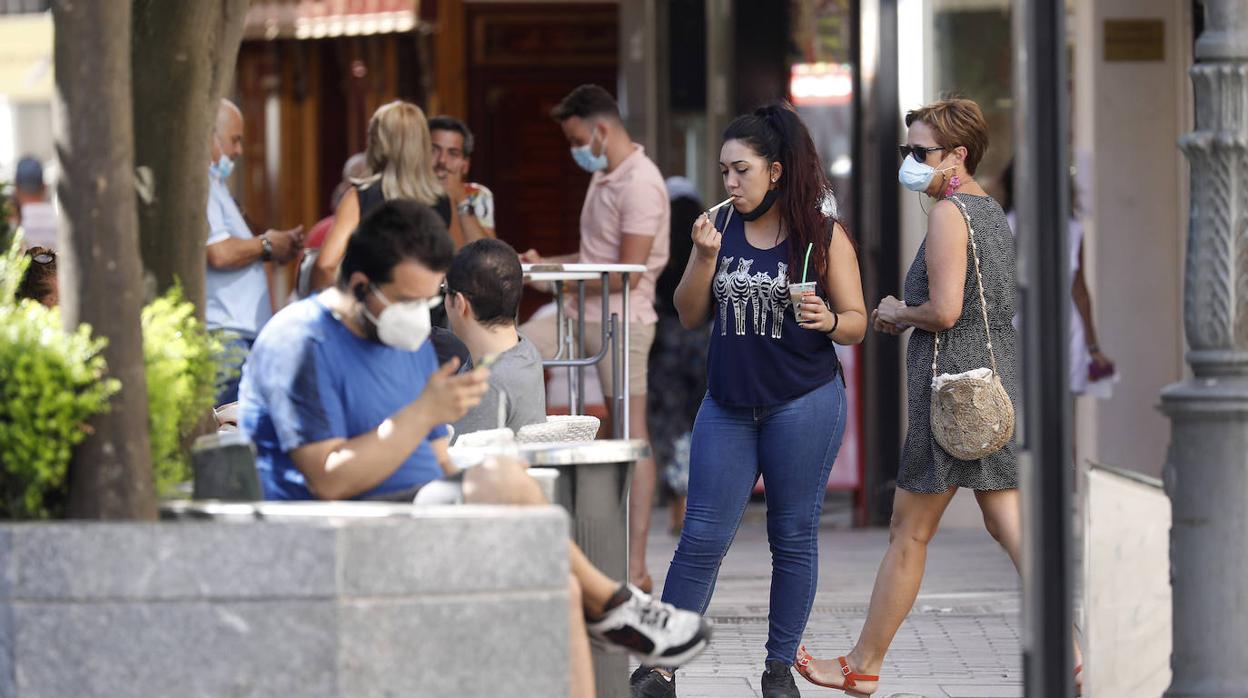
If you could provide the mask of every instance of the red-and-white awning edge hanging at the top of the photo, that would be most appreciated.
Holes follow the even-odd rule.
[[[243,36],[252,40],[328,39],[412,31],[419,0],[253,0]]]

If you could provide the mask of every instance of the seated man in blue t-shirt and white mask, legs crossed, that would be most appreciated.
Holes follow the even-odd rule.
[[[411,501],[454,471],[446,425],[480,402],[489,370],[456,373],[457,358],[439,368],[427,341],[451,257],[451,236],[432,209],[388,201],[352,233],[337,286],[265,326],[243,366],[238,422],[256,443],[265,498]],[[507,460],[470,468],[463,494],[545,503],[524,463]],[[574,683],[592,687],[587,633],[664,667],[706,647],[700,614],[615,582],[575,543],[568,558]]]

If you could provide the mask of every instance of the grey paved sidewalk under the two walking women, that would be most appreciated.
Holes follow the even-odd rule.
[[[806,647],[819,657],[849,651],[866,618],[887,532],[845,526],[829,502],[820,533],[819,596]],[[655,512],[648,558],[661,584],[675,538]],[[715,641],[680,672],[680,698],[756,698],[765,657],[771,554],[764,509],[751,503],[720,571],[709,616]],[[658,589],[656,589],[658,591]],[[1018,577],[987,533],[942,531],[929,549],[915,612],[897,632],[876,698],[1011,698],[1022,696]],[[841,696],[797,679],[802,696]]]

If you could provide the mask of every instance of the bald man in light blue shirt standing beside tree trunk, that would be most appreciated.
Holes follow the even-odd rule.
[[[205,320],[208,330],[226,341],[221,371],[225,385],[217,405],[238,400],[238,377],[260,328],[273,315],[268,297],[265,262],[283,265],[303,245],[303,227],[268,230],[252,235],[235,202],[226,180],[242,157],[242,112],[230,100],[221,100],[212,127],[212,160],[208,162],[208,242]]]

